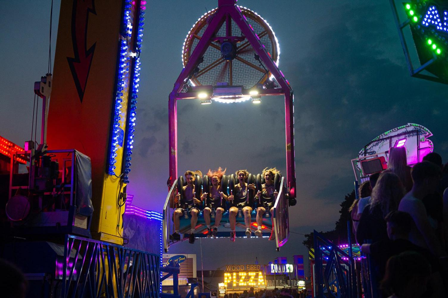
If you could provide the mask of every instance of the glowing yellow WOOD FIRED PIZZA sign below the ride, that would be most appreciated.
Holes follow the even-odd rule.
[[[260,265],[226,265],[224,286],[244,288],[264,285],[266,284]]]

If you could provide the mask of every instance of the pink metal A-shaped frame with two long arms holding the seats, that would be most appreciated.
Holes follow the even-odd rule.
[[[263,59],[267,69],[276,78],[280,88],[263,89],[260,95],[280,95],[284,94],[284,112],[285,112],[285,133],[286,133],[286,178],[288,180],[288,189],[291,196],[295,197],[295,162],[294,162],[294,116],[293,116],[293,89],[285,79],[283,73],[277,67],[276,63],[269,57],[267,50],[260,42],[257,34],[250,28],[246,18],[241,13],[241,9],[236,5],[235,0],[218,0],[218,9],[216,9],[210,24],[205,30],[198,45],[194,48],[193,54],[188,60],[187,65],[181,71],[181,74],[174,84],[168,100],[168,118],[169,118],[169,175],[171,183],[177,178],[177,100],[194,99],[196,94],[192,92],[183,92],[181,90],[188,79],[188,76],[198,65],[198,59],[201,58],[207,50],[216,33],[224,24],[224,21],[230,22],[230,18],[235,21],[241,32],[248,39],[251,46],[254,47],[257,54]],[[227,30],[227,35],[231,35],[231,30]],[[230,36],[222,39],[232,40]],[[247,90],[246,90],[247,92]],[[292,190],[292,191],[291,191]]]

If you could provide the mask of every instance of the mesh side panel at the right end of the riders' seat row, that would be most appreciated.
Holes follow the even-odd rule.
[[[274,231],[276,233],[277,250],[283,246],[289,237],[288,197],[284,177],[281,178],[280,192],[274,205]]]

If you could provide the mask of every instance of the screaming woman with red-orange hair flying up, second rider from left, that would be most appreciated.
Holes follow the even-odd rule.
[[[214,171],[208,170],[207,173],[207,176],[211,181],[210,199],[207,200],[204,208],[204,220],[207,226],[207,237],[215,238],[218,235],[218,227],[220,226],[221,218],[225,210],[225,201],[227,200],[227,196],[221,189],[221,180],[226,170],[227,168],[223,170],[220,167]],[[207,193],[205,194],[207,195]],[[215,209],[215,225],[213,227],[210,226],[210,214],[212,209]]]

